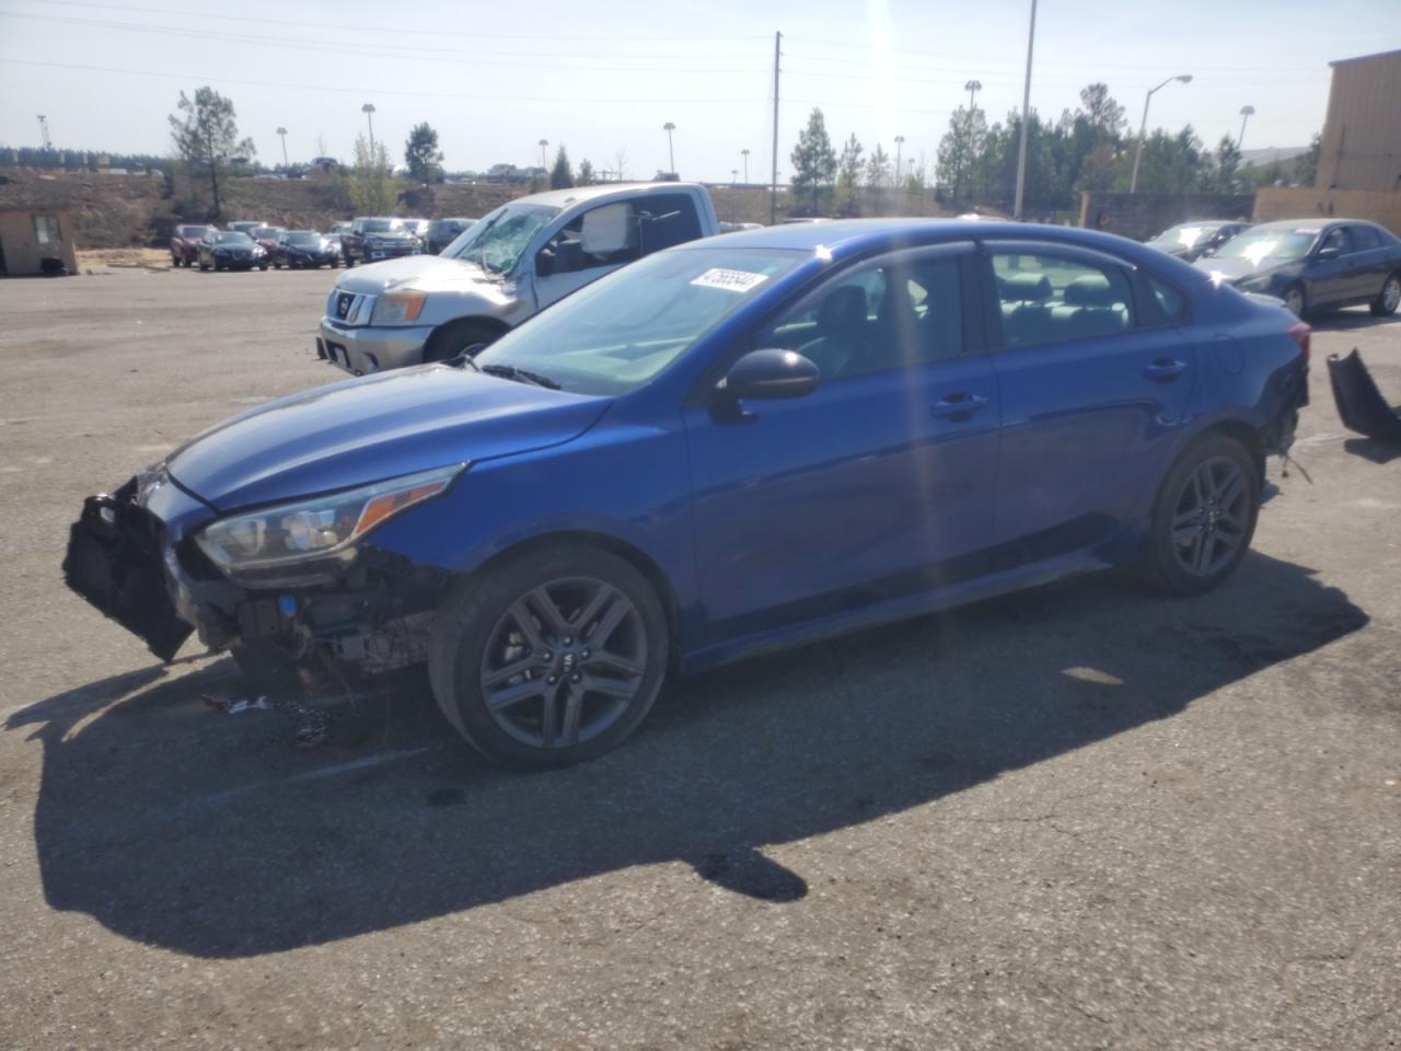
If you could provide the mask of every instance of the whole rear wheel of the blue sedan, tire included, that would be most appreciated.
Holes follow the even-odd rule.
[[[1236,439],[1196,439],[1153,502],[1140,576],[1173,594],[1202,594],[1224,583],[1255,535],[1262,482],[1259,464]]]

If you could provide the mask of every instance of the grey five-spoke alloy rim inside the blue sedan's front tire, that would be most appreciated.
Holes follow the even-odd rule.
[[[632,600],[591,577],[552,580],[511,603],[488,636],[482,699],[521,744],[567,748],[623,716],[646,668]]]

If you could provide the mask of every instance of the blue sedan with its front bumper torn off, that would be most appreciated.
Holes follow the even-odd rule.
[[[1107,234],[696,241],[475,357],[255,408],[90,497],[70,586],[171,659],[426,664],[485,755],[587,760],[671,674],[1255,528],[1309,328]]]

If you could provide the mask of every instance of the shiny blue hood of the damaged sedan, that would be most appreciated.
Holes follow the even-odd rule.
[[[609,404],[441,364],[401,369],[234,416],[167,469],[227,511],[560,444]]]

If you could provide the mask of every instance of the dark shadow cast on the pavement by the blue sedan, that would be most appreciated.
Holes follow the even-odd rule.
[[[244,957],[678,859],[793,901],[807,880],[766,846],[1170,719],[1365,624],[1313,570],[1258,554],[1192,600],[1096,575],[685,680],[621,750],[539,775],[474,760],[417,677],[296,751],[256,698],[227,708],[227,660],[94,682],[7,730],[42,741],[53,908]]]

